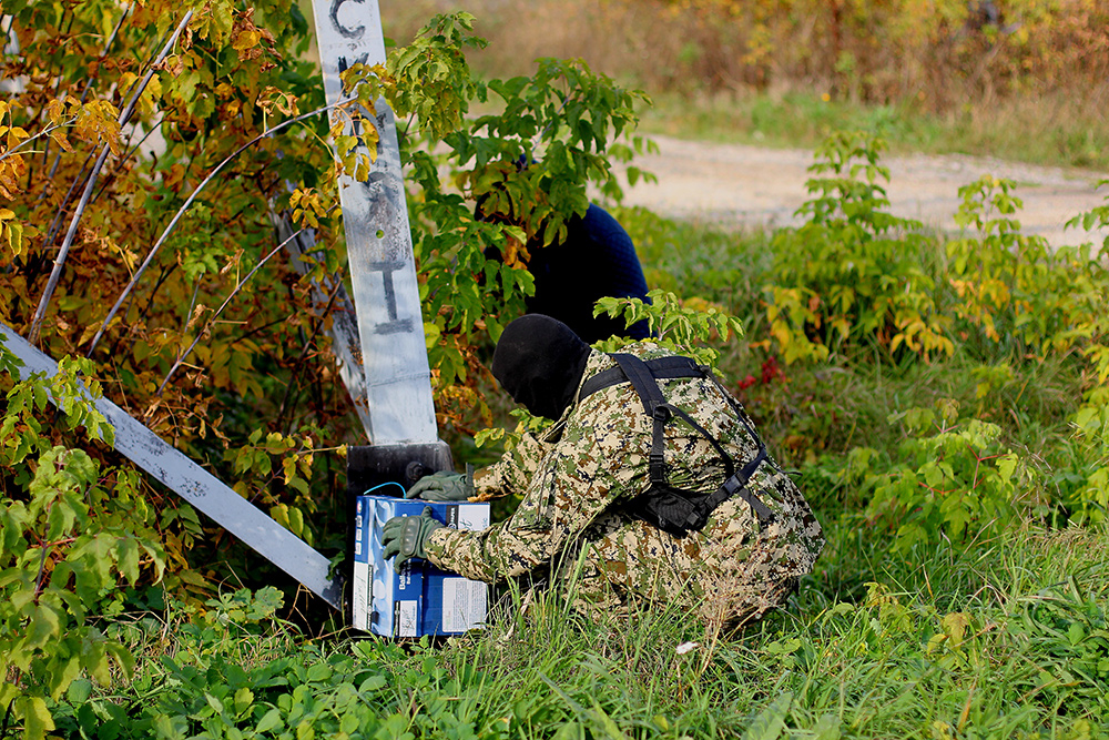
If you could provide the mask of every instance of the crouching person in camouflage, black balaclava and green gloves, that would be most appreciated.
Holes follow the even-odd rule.
[[[397,566],[421,557],[490,584],[577,575],[579,610],[676,604],[718,625],[780,606],[812,570],[820,524],[708,368],[647,342],[603,354],[530,314],[505,328],[492,372],[557,423],[472,483],[440,473],[408,496],[522,501],[481,531],[429,516],[389,520],[385,551]]]

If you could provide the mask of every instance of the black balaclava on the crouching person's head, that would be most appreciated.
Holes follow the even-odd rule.
[[[528,314],[501,333],[492,374],[518,404],[557,419],[573,401],[589,353],[589,345],[562,322]]]

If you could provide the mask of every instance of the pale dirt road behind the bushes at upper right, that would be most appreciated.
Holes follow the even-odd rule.
[[[635,185],[627,204],[730,229],[796,223],[793,213],[807,196],[811,151],[653,139],[660,153],[643,155],[637,164],[657,174],[659,182]],[[1017,217],[1024,233],[1046,236],[1056,246],[1087,241],[1100,245],[1109,235],[1064,231],[1070,217],[1105,203],[1109,187],[1098,195],[1095,186],[1109,174],[964,155],[887,156],[883,163],[889,168],[891,209],[899,216],[955,232],[958,189],[993,174],[1018,183],[1015,194],[1025,207]]]

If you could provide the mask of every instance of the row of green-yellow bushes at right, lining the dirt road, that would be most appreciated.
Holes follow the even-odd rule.
[[[1099,252],[1020,233],[1016,183],[989,175],[959,189],[955,221],[970,233],[942,244],[887,212],[883,149],[864,133],[831,136],[810,168],[814,197],[797,212],[806,223],[772,239],[766,315],[787,363],[871,345],[927,362],[956,342],[979,356],[1044,356],[1096,334],[1109,291]],[[1103,223],[1099,213],[1081,223]]]

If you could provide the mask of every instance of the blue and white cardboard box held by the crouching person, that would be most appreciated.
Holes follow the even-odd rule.
[[[488,585],[445,572],[424,560],[408,560],[397,572],[381,557],[381,528],[395,516],[419,516],[431,507],[436,519],[456,529],[485,529],[489,505],[358,496],[355,508],[352,618],[355,629],[388,637],[459,635],[481,627]]]

